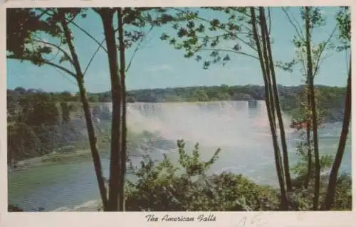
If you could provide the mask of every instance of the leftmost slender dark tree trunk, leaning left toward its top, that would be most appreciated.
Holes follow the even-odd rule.
[[[92,118],[90,115],[90,106],[89,106],[89,102],[88,102],[88,96],[85,91],[83,72],[80,69],[78,55],[75,52],[75,48],[74,48],[74,45],[71,40],[71,35],[70,35],[70,31],[68,29],[68,25],[66,23],[66,18],[65,18],[64,12],[63,12],[62,26],[63,26],[64,34],[66,35],[66,40],[68,43],[70,54],[73,57],[75,72],[77,73],[76,79],[78,82],[78,87],[79,87],[79,92],[80,92],[80,101],[83,104],[85,122],[86,122],[87,129],[88,129],[88,138],[89,138],[89,143],[90,143],[91,154],[93,157],[95,175],[98,180],[100,196],[101,196],[101,200],[103,201],[103,206],[105,209],[105,207],[108,204],[108,197],[107,197],[108,195],[107,195],[106,188],[105,188],[105,180],[103,177],[103,171],[102,171],[102,167],[101,167],[100,155],[99,155],[98,146],[97,146],[97,138],[95,135],[93,121],[92,121]]]

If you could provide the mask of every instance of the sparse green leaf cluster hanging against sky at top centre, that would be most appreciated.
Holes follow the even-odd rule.
[[[191,9],[173,8],[169,21],[175,34],[163,33],[161,40],[177,50],[184,50],[184,57],[194,57],[203,64],[203,69],[208,69],[212,64],[226,65],[231,60],[227,52],[244,54],[243,45],[251,48],[248,38],[251,31],[246,27],[248,13],[241,7],[203,7],[199,11]],[[218,11],[215,18],[206,18],[204,13]],[[244,30],[244,31],[243,31]],[[233,46],[226,47],[230,40],[239,40]],[[205,54],[207,52],[207,54]]]

